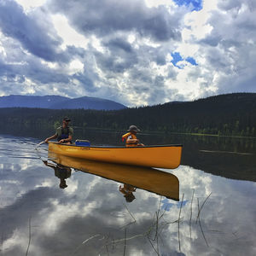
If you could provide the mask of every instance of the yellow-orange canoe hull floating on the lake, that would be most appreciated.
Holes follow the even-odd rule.
[[[126,148],[100,146],[80,147],[49,143],[49,151],[87,160],[174,169],[180,164],[182,145]]]

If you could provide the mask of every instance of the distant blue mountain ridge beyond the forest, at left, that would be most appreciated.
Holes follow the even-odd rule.
[[[49,108],[49,109],[96,109],[118,110],[125,105],[110,100],[83,96],[68,98],[65,96],[0,96],[0,108]]]

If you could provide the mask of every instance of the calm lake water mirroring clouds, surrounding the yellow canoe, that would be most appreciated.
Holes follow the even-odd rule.
[[[116,134],[87,135],[119,144]],[[164,181],[153,188],[160,174],[148,180],[142,170],[97,163],[82,163],[83,172],[73,163],[63,174],[46,145],[35,150],[40,139],[0,136],[0,255],[256,255],[255,141],[141,138],[183,143],[182,165],[161,170],[170,173],[169,198]],[[119,182],[86,170],[117,170]],[[127,200],[125,178],[136,173],[144,174]]]

